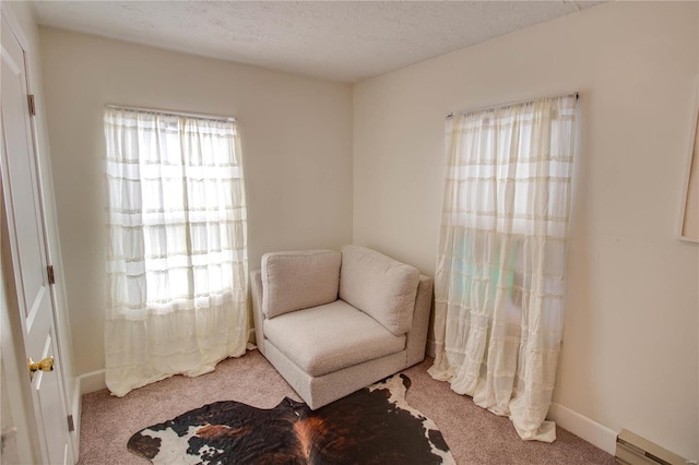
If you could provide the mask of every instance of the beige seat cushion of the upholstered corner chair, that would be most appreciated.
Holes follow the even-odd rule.
[[[264,336],[311,377],[405,348],[405,335],[393,335],[343,300],[265,320]]]

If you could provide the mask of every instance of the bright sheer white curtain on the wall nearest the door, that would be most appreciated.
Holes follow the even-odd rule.
[[[106,381],[122,396],[240,356],[246,204],[235,122],[107,107]]]

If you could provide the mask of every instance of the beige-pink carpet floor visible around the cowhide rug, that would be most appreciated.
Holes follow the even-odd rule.
[[[404,371],[413,381],[407,402],[441,430],[457,463],[466,464],[614,464],[614,457],[558,428],[553,444],[524,442],[508,418],[497,417],[455,394],[427,374],[431,359]],[[80,464],[143,464],[127,450],[134,432],[217,401],[238,401],[272,408],[298,395],[258,350],[218,363],[198,378],[173,377],[114,397],[107,390],[83,396]]]

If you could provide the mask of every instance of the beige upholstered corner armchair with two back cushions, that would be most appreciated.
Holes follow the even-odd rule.
[[[250,273],[257,345],[312,408],[425,358],[433,279],[370,249],[266,253]]]

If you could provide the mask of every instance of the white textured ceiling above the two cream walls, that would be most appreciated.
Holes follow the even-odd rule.
[[[588,1],[36,1],[39,24],[356,82]]]

